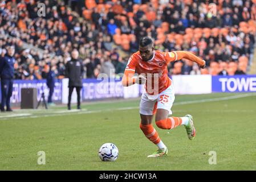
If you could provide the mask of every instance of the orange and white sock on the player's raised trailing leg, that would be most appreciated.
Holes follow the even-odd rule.
[[[170,117],[166,119],[161,119],[156,121],[156,125],[160,127],[160,129],[174,129],[174,127],[180,125],[187,125],[189,122],[188,117]]]

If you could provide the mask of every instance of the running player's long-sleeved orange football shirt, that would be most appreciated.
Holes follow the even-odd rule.
[[[188,51],[161,52],[154,51],[151,60],[143,61],[140,52],[137,51],[129,58],[127,67],[125,68],[123,84],[131,85],[129,79],[133,77],[135,71],[147,78],[145,89],[148,94],[159,94],[167,89],[172,80],[168,77],[167,64],[180,60],[182,58],[189,59],[199,65],[204,65],[204,61]]]

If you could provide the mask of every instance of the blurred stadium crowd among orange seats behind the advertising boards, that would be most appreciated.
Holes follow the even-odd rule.
[[[45,16],[38,16],[40,2]],[[171,63],[170,75],[245,74],[255,32],[256,1],[0,0],[0,54],[15,46],[16,79],[46,78],[48,67],[64,78],[73,49],[84,78],[113,68],[123,73],[143,36],[155,39],[160,51],[191,51],[206,61],[202,70],[188,60]]]

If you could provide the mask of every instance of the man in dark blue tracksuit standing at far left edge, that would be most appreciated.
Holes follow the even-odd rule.
[[[0,77],[1,77],[1,111],[13,111],[11,109],[11,95],[13,94],[13,78],[14,78],[14,46],[7,47],[7,53],[1,53],[0,56]]]

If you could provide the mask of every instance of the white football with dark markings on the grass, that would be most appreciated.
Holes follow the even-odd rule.
[[[99,150],[102,161],[115,161],[118,157],[118,148],[113,143],[104,143]]]

